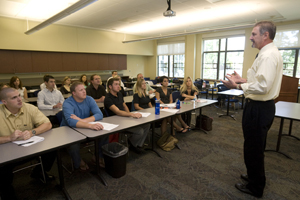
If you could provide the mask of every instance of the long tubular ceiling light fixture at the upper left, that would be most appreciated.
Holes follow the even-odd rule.
[[[57,13],[56,15],[50,17],[46,21],[44,21],[44,22],[40,23],[39,25],[33,27],[32,29],[26,31],[25,34],[31,35],[32,33],[39,31],[39,30],[57,22],[58,20],[61,20],[68,15],[71,15],[74,12],[77,12],[78,10],[90,5],[91,3],[94,3],[95,1],[98,1],[98,0],[80,0],[76,3],[74,3],[73,5],[71,5],[70,7],[64,9],[63,11]]]

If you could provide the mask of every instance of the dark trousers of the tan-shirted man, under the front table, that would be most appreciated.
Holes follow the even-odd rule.
[[[49,152],[49,153],[45,153],[41,156],[42,158],[42,162],[43,162],[43,167],[45,171],[50,171],[55,158],[56,158],[56,152]],[[1,200],[6,200],[6,199],[16,199],[16,195],[14,192],[14,188],[12,186],[12,182],[13,182],[13,169],[15,168],[15,166],[18,165],[22,165],[28,161],[30,161],[31,159],[27,159],[25,161],[20,161],[17,163],[13,163],[13,164],[8,164],[8,165],[4,165],[2,167],[0,167],[0,197]],[[33,171],[34,172],[40,172],[41,170],[41,166],[37,165]]]

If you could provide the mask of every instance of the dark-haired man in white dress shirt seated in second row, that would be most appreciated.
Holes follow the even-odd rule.
[[[51,75],[44,77],[46,88],[38,93],[37,105],[39,109],[61,108],[64,97],[54,88],[55,79]]]

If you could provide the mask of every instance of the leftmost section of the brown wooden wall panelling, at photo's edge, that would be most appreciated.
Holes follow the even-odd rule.
[[[13,51],[0,51],[0,73],[15,73]]]

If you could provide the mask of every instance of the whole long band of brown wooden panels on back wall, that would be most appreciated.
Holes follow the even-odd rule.
[[[0,73],[126,69],[126,55],[0,50]]]

